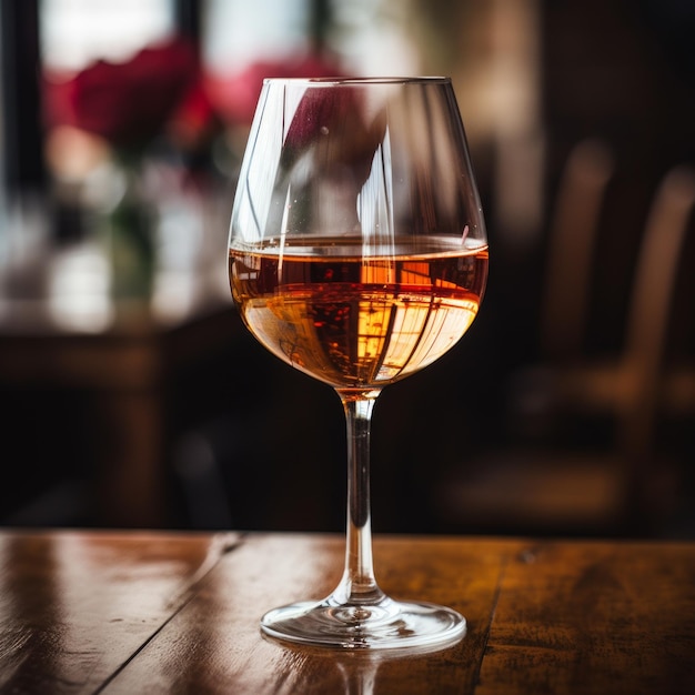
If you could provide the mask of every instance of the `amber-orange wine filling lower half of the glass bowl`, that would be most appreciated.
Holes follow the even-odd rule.
[[[363,258],[361,245],[311,240],[230,251],[232,295],[253,335],[338,389],[381,387],[437,360],[475,318],[487,246],[446,238],[416,253]]]

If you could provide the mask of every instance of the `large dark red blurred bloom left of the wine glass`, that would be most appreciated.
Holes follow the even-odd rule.
[[[127,62],[99,61],[71,79],[48,80],[48,124],[75,127],[114,147],[139,147],[162,131],[198,75],[193,48],[178,39]]]

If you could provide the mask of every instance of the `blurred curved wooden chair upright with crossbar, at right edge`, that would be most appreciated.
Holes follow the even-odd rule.
[[[693,371],[675,372],[666,361],[674,290],[695,207],[695,171],[673,169],[664,178],[646,221],[627,316],[623,354],[615,362],[558,370],[557,407],[597,412],[617,422],[622,488],[628,512],[649,515],[658,490],[656,426],[662,415],[695,407]],[[692,272],[692,269],[691,269]]]

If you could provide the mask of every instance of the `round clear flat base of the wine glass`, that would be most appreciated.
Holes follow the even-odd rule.
[[[261,629],[279,639],[349,649],[444,648],[465,635],[466,621],[431,603],[386,597],[376,604],[342,605],[329,597],[274,608],[262,617]]]

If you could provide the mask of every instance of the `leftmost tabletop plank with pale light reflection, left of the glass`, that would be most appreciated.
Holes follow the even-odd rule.
[[[162,628],[236,538],[3,532],[0,692],[94,692]]]

